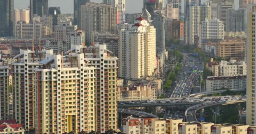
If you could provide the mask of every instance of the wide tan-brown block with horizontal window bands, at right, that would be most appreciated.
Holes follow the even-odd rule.
[[[222,58],[245,58],[245,41],[230,40],[219,41],[216,44],[215,57]]]

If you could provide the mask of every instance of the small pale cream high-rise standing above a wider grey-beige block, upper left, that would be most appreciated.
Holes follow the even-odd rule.
[[[25,21],[26,23],[29,23],[29,14],[30,10],[28,9],[15,9],[15,21],[14,23],[17,23],[18,21]]]

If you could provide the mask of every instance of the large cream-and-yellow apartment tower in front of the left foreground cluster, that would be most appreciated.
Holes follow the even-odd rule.
[[[46,54],[35,69],[37,134],[95,130],[95,68],[86,66],[83,49],[72,49],[67,58]]]

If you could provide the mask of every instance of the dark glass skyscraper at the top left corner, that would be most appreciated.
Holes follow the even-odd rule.
[[[14,0],[0,0],[0,18],[0,36],[12,36]]]

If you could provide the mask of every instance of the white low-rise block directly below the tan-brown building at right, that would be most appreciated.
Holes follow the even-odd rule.
[[[246,75],[245,61],[237,61],[235,59],[230,59],[229,62],[221,60],[220,62],[207,63],[206,68],[213,73],[213,76]]]

